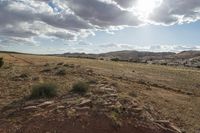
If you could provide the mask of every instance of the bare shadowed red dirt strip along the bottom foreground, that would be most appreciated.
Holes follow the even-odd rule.
[[[0,122],[2,133],[173,133],[160,128],[156,124],[138,122],[137,120],[123,121],[117,126],[104,115],[81,116],[65,118],[51,116],[51,118],[35,117],[28,120],[21,127],[14,127]]]

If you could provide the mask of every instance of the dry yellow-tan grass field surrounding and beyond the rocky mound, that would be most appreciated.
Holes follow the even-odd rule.
[[[0,108],[30,94],[33,84],[52,82],[58,85],[58,95],[67,93],[74,82],[90,81],[117,83],[120,92],[134,92],[144,106],[153,106],[162,118],[169,119],[187,132],[200,129],[200,70],[180,67],[73,59],[53,56],[0,54],[8,69],[0,69]],[[56,69],[66,75],[56,76]],[[45,64],[50,72],[41,73]],[[93,73],[89,73],[93,70]],[[28,73],[26,80],[12,77]],[[144,82],[140,82],[140,81]],[[190,95],[187,95],[190,94]],[[158,116],[159,118],[159,116]]]

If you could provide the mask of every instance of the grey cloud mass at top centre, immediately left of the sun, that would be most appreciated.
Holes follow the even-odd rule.
[[[114,3],[100,0],[68,0],[66,3],[76,15],[99,28],[142,23],[133,12],[122,10]]]

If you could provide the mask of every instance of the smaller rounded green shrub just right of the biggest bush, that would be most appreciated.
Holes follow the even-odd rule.
[[[83,82],[83,81],[79,81],[75,84],[73,84],[72,90],[71,92],[73,93],[78,93],[78,94],[85,94],[88,91],[88,84]]]

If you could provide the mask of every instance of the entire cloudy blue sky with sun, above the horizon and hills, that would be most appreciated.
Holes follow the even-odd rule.
[[[200,50],[200,0],[0,0],[0,51]]]

